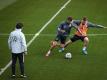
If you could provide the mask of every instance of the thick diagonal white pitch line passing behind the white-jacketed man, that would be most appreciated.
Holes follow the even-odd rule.
[[[31,43],[40,35],[40,33],[56,18],[56,16],[71,2],[68,0],[53,16],[52,18],[46,22],[46,24],[33,36],[33,38],[27,43],[27,47],[31,45]],[[0,71],[0,76],[4,73],[4,71],[11,65],[12,61],[10,61],[4,68]]]

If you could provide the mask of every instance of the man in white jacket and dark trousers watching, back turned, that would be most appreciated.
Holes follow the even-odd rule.
[[[24,34],[21,32],[23,27],[22,23],[16,24],[16,29],[10,33],[8,39],[9,49],[12,53],[12,77],[15,77],[15,68],[17,58],[20,64],[20,77],[26,77],[24,74],[24,53],[27,54],[27,45]]]

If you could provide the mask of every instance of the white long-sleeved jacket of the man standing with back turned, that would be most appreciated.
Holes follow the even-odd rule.
[[[15,54],[27,51],[25,36],[21,29],[16,29],[10,33],[8,45],[11,52]]]

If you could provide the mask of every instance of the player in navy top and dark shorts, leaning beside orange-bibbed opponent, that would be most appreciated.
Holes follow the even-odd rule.
[[[50,49],[46,53],[46,56],[49,56],[52,50],[58,45],[60,46],[59,52],[62,52],[64,50],[65,41],[68,35],[70,34],[72,28],[71,22],[72,22],[72,17],[68,17],[65,22],[60,24],[60,26],[58,27],[57,36],[55,40],[51,41]],[[58,43],[59,41],[60,43]]]

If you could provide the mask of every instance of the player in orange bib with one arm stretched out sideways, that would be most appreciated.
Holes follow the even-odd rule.
[[[88,22],[86,17],[83,17],[83,19],[81,21],[76,21],[75,24],[77,25],[77,31],[76,31],[75,35],[65,43],[65,47],[70,43],[73,43],[77,40],[81,40],[81,41],[83,41],[82,52],[83,52],[83,54],[87,55],[88,54],[87,46],[89,44],[89,39],[87,36],[88,28],[89,27],[104,28],[104,27],[102,25],[96,25],[91,22]]]

